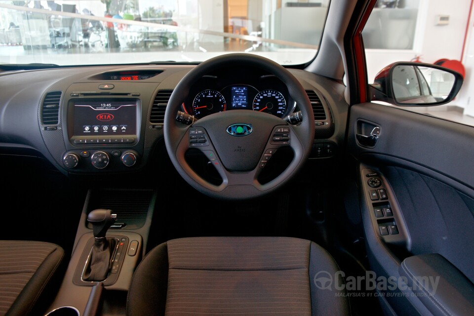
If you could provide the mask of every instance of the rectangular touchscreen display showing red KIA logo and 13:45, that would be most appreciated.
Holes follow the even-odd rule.
[[[136,135],[137,101],[75,100],[74,136]]]

